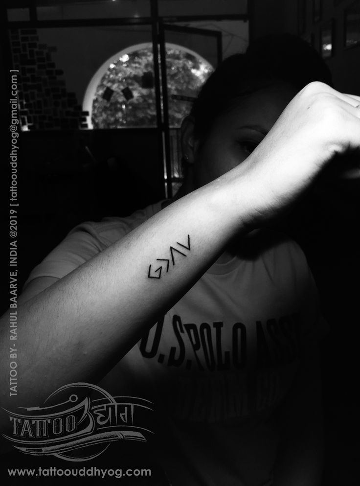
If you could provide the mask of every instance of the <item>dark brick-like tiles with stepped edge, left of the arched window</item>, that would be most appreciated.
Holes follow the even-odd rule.
[[[22,130],[88,128],[88,112],[68,92],[64,72],[51,53],[56,47],[39,43],[36,29],[10,31],[14,69],[20,71],[19,102]]]

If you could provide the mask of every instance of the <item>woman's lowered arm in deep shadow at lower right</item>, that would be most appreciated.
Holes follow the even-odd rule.
[[[273,486],[319,486],[323,466],[323,415],[317,348],[307,350],[278,417],[281,438]]]

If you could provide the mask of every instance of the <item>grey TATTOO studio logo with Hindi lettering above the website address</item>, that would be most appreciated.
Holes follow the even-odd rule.
[[[133,396],[112,397],[89,383],[59,388],[43,407],[19,409],[23,413],[3,409],[12,424],[12,435],[3,436],[15,448],[34,456],[88,461],[102,454],[112,441],[146,442],[153,434],[146,427],[154,411],[152,402]]]

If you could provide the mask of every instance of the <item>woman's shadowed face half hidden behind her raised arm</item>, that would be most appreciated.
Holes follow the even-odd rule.
[[[194,145],[194,188],[243,162],[296,93],[291,85],[278,83],[236,100],[215,120],[205,139]]]

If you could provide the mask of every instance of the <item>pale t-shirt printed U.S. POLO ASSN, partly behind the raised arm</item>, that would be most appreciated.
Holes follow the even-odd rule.
[[[77,226],[27,282],[64,277],[160,209]],[[325,330],[294,242],[260,231],[240,254],[215,262],[99,383],[155,401],[157,456],[173,486],[266,484],[278,441],[273,411],[304,346]]]

